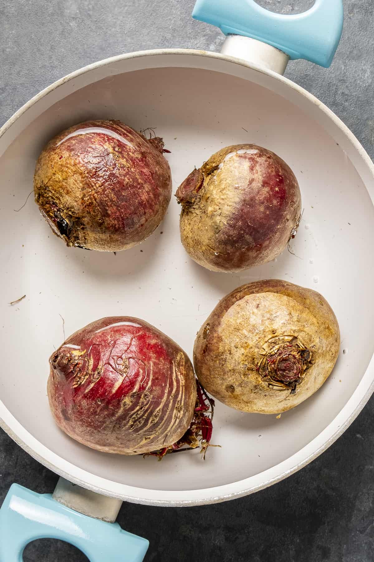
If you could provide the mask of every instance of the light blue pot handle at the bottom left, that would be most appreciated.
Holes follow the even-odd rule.
[[[80,549],[90,562],[142,562],[149,542],[73,511],[50,494],[12,484],[0,509],[0,562],[22,562],[25,546],[37,538],[58,538]]]

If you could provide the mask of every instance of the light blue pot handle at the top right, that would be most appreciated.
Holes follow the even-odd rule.
[[[197,0],[192,17],[225,35],[245,35],[268,43],[291,59],[330,66],[343,30],[343,0],[316,0],[304,13],[270,12],[255,0]]]

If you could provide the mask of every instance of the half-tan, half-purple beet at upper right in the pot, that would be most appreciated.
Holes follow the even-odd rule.
[[[242,271],[273,260],[295,234],[301,194],[293,171],[255,144],[216,152],[179,186],[181,240],[198,264]]]

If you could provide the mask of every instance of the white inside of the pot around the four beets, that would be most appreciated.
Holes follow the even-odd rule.
[[[52,105],[44,101],[45,109],[30,124],[22,125],[21,117],[16,138],[0,159],[1,398],[49,450],[114,483],[188,491],[241,481],[318,437],[370,362],[374,211],[367,188],[373,186],[364,185],[352,164],[357,150],[348,141],[345,149],[340,146],[336,125],[322,113],[316,120],[316,108],[308,110],[311,102],[302,107],[290,101],[291,95],[287,99],[279,93],[275,79],[261,85],[224,72],[172,65],[117,72],[77,90],[72,80],[71,91]],[[44,144],[86,119],[153,128],[171,151],[174,192],[194,166],[221,147],[256,143],[278,153],[292,167],[302,192],[303,216],[292,253],[284,251],[273,262],[240,274],[211,273],[183,250],[174,197],[163,223],[140,246],[117,255],[66,248],[40,216],[32,194],[20,207],[33,188],[35,160]],[[340,324],[341,351],[333,374],[302,405],[277,419],[216,402],[212,442],[221,448],[211,447],[205,462],[197,451],[168,455],[161,463],[153,457],[102,454],[54,424],[46,391],[48,357],[64,334],[103,316],[137,316],[192,357],[196,332],[220,298],[238,285],[265,278],[321,292]],[[24,294],[21,302],[8,304]]]

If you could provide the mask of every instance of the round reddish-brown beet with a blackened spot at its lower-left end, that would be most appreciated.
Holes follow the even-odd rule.
[[[152,234],[167,211],[172,180],[163,152],[162,139],[146,139],[121,121],[72,126],[36,162],[35,201],[67,246],[126,250]]]

